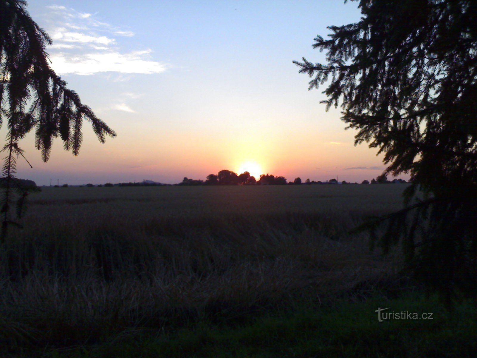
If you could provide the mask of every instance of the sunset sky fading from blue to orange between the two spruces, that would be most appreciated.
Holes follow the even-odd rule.
[[[30,133],[20,146],[33,168],[19,159],[19,178],[177,183],[229,169],[361,182],[384,169],[292,63],[324,62],[313,39],[359,21],[356,2],[31,0],[27,9],[52,37],[53,70],[117,137],[100,144],[85,123],[79,156],[56,139],[43,163]]]

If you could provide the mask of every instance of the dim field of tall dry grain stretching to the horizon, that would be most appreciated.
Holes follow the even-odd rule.
[[[383,302],[420,292],[400,273],[397,249],[387,256],[370,252],[366,233],[350,234],[365,217],[401,208],[405,187],[43,188],[30,197],[24,229],[12,228],[1,244],[1,347],[25,357],[135,357],[126,348],[123,355],[90,350],[117,347],[139,335],[144,349],[166,344],[165,357],[188,357],[187,349],[204,347],[202,330],[188,331],[192,348],[175,336],[186,352],[171,348],[169,335],[204,322],[210,346],[211,339],[232,342],[234,336],[220,338],[211,326],[273,326],[277,318],[253,320],[286,315],[276,324],[291,320],[293,327],[290,312],[296,310],[329,310],[337,302],[353,310],[350,305],[376,296]],[[360,319],[374,324],[369,309]],[[475,314],[462,313],[463,330],[475,325]],[[287,335],[301,337],[297,332]]]

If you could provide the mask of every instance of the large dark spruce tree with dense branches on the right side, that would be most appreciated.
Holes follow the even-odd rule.
[[[406,209],[369,225],[386,223],[384,250],[402,242],[408,267],[447,303],[456,293],[476,295],[477,2],[359,7],[360,21],[315,39],[326,63],[295,63],[313,77],[310,89],[328,83],[327,109],[342,101],[355,144],[384,153],[384,174],[411,173]],[[424,200],[414,199],[418,188]]]

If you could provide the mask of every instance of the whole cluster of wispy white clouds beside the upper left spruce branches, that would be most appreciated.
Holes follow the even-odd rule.
[[[89,12],[61,5],[48,9],[47,31],[53,40],[48,51],[58,74],[158,74],[166,70],[165,63],[153,61],[150,49],[120,50],[120,38],[134,36],[134,32],[99,21]]]

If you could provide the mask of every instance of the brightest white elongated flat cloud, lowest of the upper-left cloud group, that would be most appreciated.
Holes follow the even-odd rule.
[[[58,53],[51,55],[52,68],[58,74],[90,75],[98,72],[119,72],[123,74],[158,74],[166,70],[166,65],[148,61],[144,52],[118,53],[113,51],[84,53]]]

